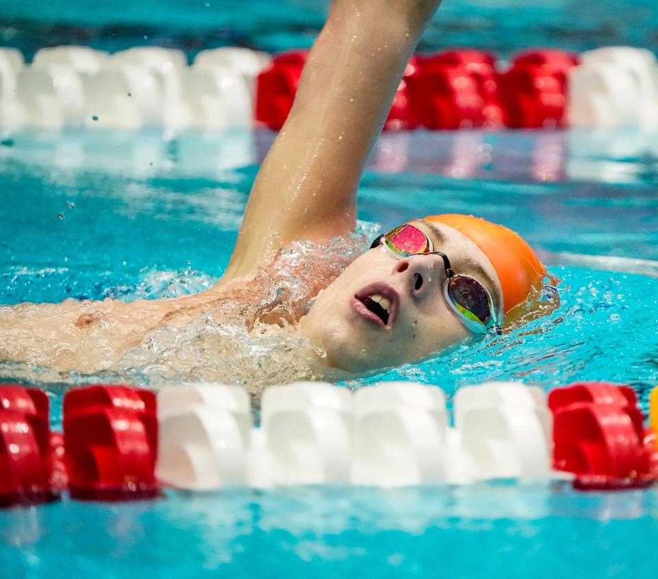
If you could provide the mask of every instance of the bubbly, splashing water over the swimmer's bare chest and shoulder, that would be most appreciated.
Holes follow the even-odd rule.
[[[370,228],[361,224],[361,231]],[[32,382],[124,381],[154,387],[221,381],[243,383],[253,394],[269,384],[314,377],[324,352],[308,342],[297,321],[365,245],[362,233],[326,246],[295,241],[254,279],[201,300],[192,294],[210,289],[217,279],[190,267],[143,270],[132,287],[102,292],[110,300],[8,308],[4,320],[0,316],[0,344],[10,346],[0,347],[0,360],[23,364],[0,362],[0,371]],[[194,302],[126,303],[184,296]]]

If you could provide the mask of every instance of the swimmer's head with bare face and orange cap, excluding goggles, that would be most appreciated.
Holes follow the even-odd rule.
[[[517,318],[543,285],[544,266],[508,228],[469,215],[432,215],[408,223],[426,235],[433,252],[449,258],[452,271],[483,286],[498,324]],[[438,253],[395,255],[376,244],[318,296],[302,319],[302,330],[324,348],[330,366],[350,373],[445,351],[477,333],[450,303],[449,274]]]

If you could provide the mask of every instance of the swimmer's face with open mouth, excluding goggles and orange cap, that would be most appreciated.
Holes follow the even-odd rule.
[[[448,255],[455,272],[485,285],[500,311],[498,276],[473,241],[444,224],[409,223],[424,231],[435,251]],[[373,248],[322,292],[302,318],[302,330],[326,350],[330,366],[350,373],[422,359],[473,335],[446,302],[445,281],[443,259],[438,255],[399,259],[381,247]],[[363,305],[364,298],[373,297],[389,310],[386,322]]]

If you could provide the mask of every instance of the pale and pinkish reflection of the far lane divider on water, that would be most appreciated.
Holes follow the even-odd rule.
[[[222,178],[230,169],[260,165],[276,134],[150,130],[135,137],[118,130],[23,132],[0,144],[0,160],[138,178]],[[631,184],[658,174],[658,134],[633,128],[385,132],[369,169],[458,179]]]

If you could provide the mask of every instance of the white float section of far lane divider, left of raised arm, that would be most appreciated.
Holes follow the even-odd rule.
[[[86,47],[36,53],[0,48],[0,128],[165,130],[251,127],[255,78],[271,57],[248,49],[107,54]]]

